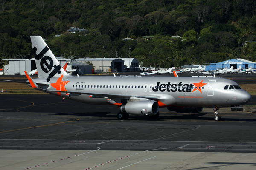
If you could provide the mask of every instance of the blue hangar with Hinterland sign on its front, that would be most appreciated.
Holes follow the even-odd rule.
[[[250,66],[252,66],[252,68],[256,68],[256,62],[252,62],[246,59],[229,59],[223,62],[218,62],[218,63],[211,63],[211,65],[207,65],[205,68],[205,71],[208,70],[216,70],[218,68],[230,68],[231,66],[233,66],[233,69],[237,69],[239,68],[239,66],[241,66],[241,68],[243,69],[247,69],[250,68]]]

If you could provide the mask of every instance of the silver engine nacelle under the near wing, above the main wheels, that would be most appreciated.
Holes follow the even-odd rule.
[[[149,115],[153,116],[158,113],[159,105],[154,100],[143,100],[136,102],[128,102],[121,106],[123,113],[133,115]]]

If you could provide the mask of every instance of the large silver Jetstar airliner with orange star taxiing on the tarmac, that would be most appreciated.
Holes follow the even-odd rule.
[[[116,105],[118,119],[131,115],[159,116],[159,108],[179,113],[199,113],[212,107],[220,120],[221,107],[243,105],[251,95],[230,79],[218,77],[104,77],[71,76],[61,67],[42,37],[31,36],[38,79],[26,83],[32,88],[65,99],[95,105]]]

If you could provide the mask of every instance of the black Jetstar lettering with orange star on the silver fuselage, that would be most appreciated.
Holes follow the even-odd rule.
[[[193,83],[193,84],[183,84],[182,82],[179,82],[179,84],[171,84],[171,82],[168,82],[167,84],[163,83],[160,84],[160,82],[157,82],[157,85],[152,88],[154,92],[157,92],[158,90],[161,92],[168,91],[168,92],[194,92],[196,90],[200,91],[202,93],[202,90],[204,85],[207,83],[203,83],[203,80],[199,83]]]

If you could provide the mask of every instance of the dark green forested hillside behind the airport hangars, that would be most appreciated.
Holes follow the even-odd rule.
[[[104,57],[131,51],[154,67],[167,59],[175,67],[256,61],[256,42],[241,47],[256,41],[255,7],[255,0],[0,0],[0,57],[32,54],[30,36],[40,35],[56,56],[74,59],[102,57],[104,46]],[[70,27],[88,32],[67,33]],[[154,39],[142,38],[148,35]]]

